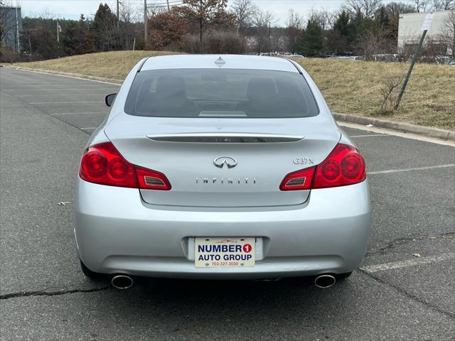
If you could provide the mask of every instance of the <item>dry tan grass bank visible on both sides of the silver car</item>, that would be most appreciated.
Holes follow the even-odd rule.
[[[77,73],[122,80],[132,66],[159,51],[92,53],[14,66]],[[400,108],[381,114],[381,90],[387,80],[405,75],[407,63],[373,63],[352,60],[297,60],[315,80],[333,112],[378,117],[410,124],[455,127],[455,67],[417,64]]]

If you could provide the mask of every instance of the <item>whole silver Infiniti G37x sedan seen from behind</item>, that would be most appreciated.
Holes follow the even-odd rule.
[[[365,161],[292,60],[171,55],[133,67],[82,155],[82,271],[135,276],[314,276],[363,260]]]

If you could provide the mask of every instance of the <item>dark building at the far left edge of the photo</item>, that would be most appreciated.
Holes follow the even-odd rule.
[[[19,36],[22,32],[21,7],[0,6],[1,47],[21,52]]]

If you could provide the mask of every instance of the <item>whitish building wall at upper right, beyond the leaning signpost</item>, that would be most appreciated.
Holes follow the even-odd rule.
[[[402,53],[406,45],[415,45],[419,43],[422,36],[422,24],[429,13],[433,13],[432,24],[427,31],[426,39],[431,39],[434,43],[444,43],[441,41],[444,35],[444,19],[449,16],[450,11],[435,11],[421,13],[403,13],[400,14],[398,21],[398,52]],[[447,50],[447,54],[451,51]]]

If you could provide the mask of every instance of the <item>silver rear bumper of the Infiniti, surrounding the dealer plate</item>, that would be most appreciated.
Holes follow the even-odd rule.
[[[205,209],[160,207],[139,190],[77,180],[80,259],[104,274],[172,278],[271,278],[341,274],[363,260],[370,229],[368,181],[312,190],[303,205]],[[192,237],[257,237],[251,268],[196,268]],[[259,252],[259,253],[258,253]]]

